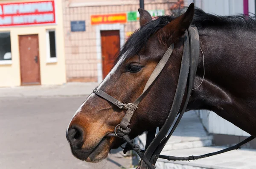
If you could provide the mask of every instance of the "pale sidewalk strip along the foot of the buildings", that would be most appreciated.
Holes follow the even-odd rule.
[[[99,85],[96,82],[69,82],[54,86],[20,86],[0,88],[0,97],[85,96]]]

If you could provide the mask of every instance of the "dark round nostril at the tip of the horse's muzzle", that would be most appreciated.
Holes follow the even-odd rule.
[[[79,127],[70,127],[66,136],[71,146],[81,148],[83,145],[83,131]]]

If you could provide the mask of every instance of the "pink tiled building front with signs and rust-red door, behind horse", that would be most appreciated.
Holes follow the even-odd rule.
[[[116,52],[140,27],[139,0],[62,1],[67,81],[101,82]],[[145,0],[145,9],[157,17],[169,14],[177,2]]]

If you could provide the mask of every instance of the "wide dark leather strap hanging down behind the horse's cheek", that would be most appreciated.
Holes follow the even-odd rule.
[[[180,80],[184,81],[183,85],[184,85],[185,82],[187,82],[185,79],[188,79],[188,81],[189,81],[188,85],[187,85],[186,100],[185,100],[185,103],[183,105],[183,109],[181,110],[181,112],[179,114],[179,117],[177,118],[177,120],[175,122],[175,125],[174,125],[174,127],[172,127],[172,130],[169,133],[169,135],[167,135],[167,137],[164,136],[164,137],[158,138],[158,140],[161,141],[161,142],[156,147],[152,147],[151,151],[153,151],[153,149],[155,149],[154,152],[148,153],[148,155],[145,152],[146,157],[148,159],[151,158],[150,162],[153,165],[156,163],[157,158],[160,155],[160,152],[163,150],[163,148],[166,145],[167,141],[169,140],[169,138],[171,137],[172,133],[176,129],[178,123],[180,122],[181,117],[183,116],[184,112],[186,111],[186,107],[187,107],[187,104],[189,102],[189,98],[190,98],[190,95],[191,95],[191,92],[192,92],[192,88],[193,88],[193,85],[194,85],[195,74],[196,74],[196,70],[197,70],[197,66],[198,66],[198,56],[199,56],[199,35],[198,35],[197,28],[192,25],[191,27],[189,27],[188,32],[185,34],[185,36],[187,36],[188,38],[187,38],[186,44],[184,42],[183,57],[184,57],[184,62],[186,62],[186,60],[189,60],[189,62],[184,65],[185,67],[189,68],[189,76],[187,74],[185,75],[184,73],[182,74],[182,69],[186,69],[186,72],[188,70],[187,70],[187,68],[182,68],[183,64],[181,64],[179,81]],[[186,48],[186,47],[189,47],[189,48]],[[186,77],[183,77],[183,75],[185,75]],[[179,81],[178,81],[177,90],[178,90],[179,87],[182,87],[182,86],[179,86]],[[183,89],[186,89],[186,86],[183,86]],[[179,92],[177,92],[177,90],[176,90],[176,94],[178,93],[179,95],[182,95],[182,99],[183,99],[183,95],[185,94],[185,90],[182,91],[183,93],[179,93]],[[176,104],[175,102],[176,102],[176,100],[173,101],[172,105]],[[181,104],[181,102],[182,101],[180,101],[178,103]],[[176,110],[178,110],[178,109],[180,109],[180,105],[179,105],[179,107],[177,107]],[[171,121],[171,123],[168,126],[172,125],[172,123],[173,123],[173,121],[174,121],[174,119],[176,117],[176,113],[172,112],[172,110],[173,110],[173,107],[172,107],[172,109],[170,111],[170,114],[169,114],[170,115],[169,118],[172,118],[171,119],[172,121]],[[172,113],[174,114],[173,116],[171,116]],[[167,121],[168,120],[169,119],[167,118]],[[160,131],[163,131],[163,133],[165,133],[165,135],[166,135],[168,133],[170,127],[166,127],[166,129],[164,129],[163,127],[161,128]],[[157,136],[156,136],[156,138],[157,138]],[[150,151],[150,150],[148,150],[148,151]],[[151,157],[148,157],[150,154],[151,154]]]

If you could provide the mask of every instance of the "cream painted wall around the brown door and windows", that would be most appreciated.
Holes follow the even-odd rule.
[[[25,1],[25,0],[22,0]],[[28,0],[26,0],[28,1]],[[35,1],[35,0],[34,0]],[[21,0],[0,1],[0,3],[21,2]],[[38,25],[0,28],[1,31],[10,31],[12,64],[0,65],[0,87],[20,85],[20,58],[18,35],[38,34],[41,85],[61,85],[66,82],[63,15],[61,0],[55,0],[56,25]],[[55,29],[57,62],[47,63],[47,29]]]

